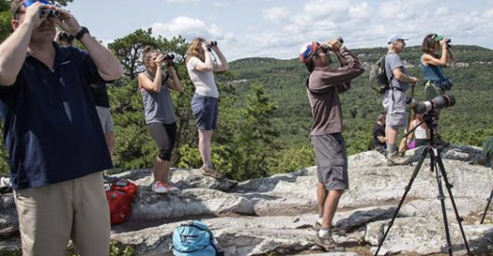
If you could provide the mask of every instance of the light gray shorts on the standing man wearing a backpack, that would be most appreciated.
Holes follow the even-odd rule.
[[[387,109],[386,126],[406,127],[406,93],[400,90],[387,90],[384,93],[383,107]]]

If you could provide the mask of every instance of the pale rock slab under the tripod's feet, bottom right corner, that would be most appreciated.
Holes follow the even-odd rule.
[[[365,241],[376,252],[378,241],[383,237],[389,221],[377,221],[367,225]],[[450,224],[452,251],[465,254],[460,229]],[[491,252],[493,249],[493,225],[464,225],[469,247],[473,252]],[[397,218],[390,229],[379,255],[415,253],[419,255],[447,253],[443,221],[432,217]]]

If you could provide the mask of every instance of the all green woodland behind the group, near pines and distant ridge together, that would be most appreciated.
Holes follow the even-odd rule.
[[[10,30],[6,29],[7,5],[0,7],[0,15],[5,18],[1,20],[1,41]],[[143,70],[140,59],[146,45],[176,55],[175,65],[184,87],[181,93],[171,95],[178,125],[172,166],[200,167],[198,134],[190,107],[194,86],[184,63],[188,44],[180,36],[166,39],[153,36],[150,29],[139,29],[108,45],[122,61],[125,71],[120,80],[108,85],[116,126],[113,157],[116,171],[149,168],[157,156],[144,122],[136,81],[136,75]],[[487,135],[493,134],[490,113],[493,51],[476,46],[454,46],[454,49],[459,63],[446,73],[455,82],[452,93],[457,103],[443,112],[441,133],[454,143],[480,145]],[[355,52],[369,66],[385,49]],[[410,47],[403,56],[410,73],[420,77],[415,67],[420,50]],[[308,74],[305,67],[297,59],[269,58],[241,59],[230,63],[230,67],[229,71],[215,76],[220,90],[219,127],[212,137],[212,162],[216,168],[229,178],[245,180],[314,165],[309,139],[311,112],[304,88]],[[371,148],[371,129],[376,115],[382,111],[380,98],[368,86],[368,74],[365,72],[356,79],[352,89],[341,96],[349,154]],[[422,85],[418,85],[415,94],[422,99]],[[4,143],[0,144],[0,173],[8,173]]]

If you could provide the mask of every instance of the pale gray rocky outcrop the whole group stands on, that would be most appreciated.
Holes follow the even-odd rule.
[[[197,170],[174,169],[171,181],[182,191],[165,195],[151,191],[150,170],[114,175],[133,180],[139,191],[132,218],[112,228],[112,239],[134,247],[138,255],[169,255],[173,229],[189,219],[205,218],[228,256],[370,254],[405,192],[421,150],[408,151],[413,166],[388,167],[375,151],[349,157],[350,189],[341,198],[333,221],[346,233],[335,236],[335,240],[347,248],[347,254],[323,254],[313,243],[318,217],[315,167],[241,183],[205,177]],[[478,148],[452,146],[442,157],[471,249],[475,254],[491,253],[493,210],[487,215],[488,224],[478,224],[493,188],[493,171],[480,165],[484,155]],[[446,240],[437,195],[435,173],[429,171],[429,160],[425,160],[380,253],[444,252]],[[463,254],[447,190],[445,196],[453,250]],[[12,196],[3,195],[0,207],[0,232],[7,230],[11,236],[17,230]],[[9,244],[10,249],[12,244],[15,242]],[[0,254],[4,248],[0,243]]]

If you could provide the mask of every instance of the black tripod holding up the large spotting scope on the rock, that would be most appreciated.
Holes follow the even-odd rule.
[[[438,199],[442,203],[442,213],[443,213],[443,220],[444,220],[444,225],[445,225],[445,235],[447,237],[447,250],[449,252],[449,255],[452,256],[452,243],[450,241],[450,230],[449,230],[449,223],[447,220],[447,210],[445,208],[445,195],[443,192],[443,186],[442,186],[442,178],[445,182],[445,187],[447,188],[447,191],[449,192],[450,200],[452,202],[452,207],[453,211],[455,213],[455,218],[457,219],[457,223],[459,224],[460,232],[462,234],[462,239],[464,240],[464,244],[467,250],[468,255],[472,255],[471,251],[469,250],[469,245],[467,244],[467,239],[464,233],[464,229],[462,228],[462,221],[463,219],[459,216],[459,213],[457,212],[457,207],[455,206],[455,201],[453,200],[452,196],[452,184],[449,183],[449,179],[447,178],[447,172],[445,171],[444,164],[442,162],[442,157],[440,156],[439,150],[435,146],[434,142],[434,129],[437,127],[437,124],[435,122],[435,117],[436,114],[434,113],[433,109],[426,112],[424,114],[423,121],[421,121],[416,127],[412,128],[408,133],[406,133],[404,136],[407,137],[411,132],[414,131],[418,126],[420,126],[422,123],[426,123],[427,127],[429,128],[431,132],[431,136],[429,141],[429,145],[426,146],[425,149],[421,152],[421,158],[419,159],[416,168],[414,168],[414,171],[412,172],[411,180],[409,181],[408,185],[406,186],[406,191],[404,192],[404,195],[402,196],[401,202],[399,203],[399,206],[397,207],[394,216],[392,217],[392,220],[389,223],[389,226],[387,230],[385,231],[385,234],[383,235],[382,239],[380,240],[378,244],[378,249],[375,252],[375,256],[378,255],[378,252],[380,251],[380,248],[382,247],[383,242],[385,241],[385,238],[387,237],[387,234],[390,231],[390,228],[394,224],[394,221],[397,217],[397,214],[399,213],[399,210],[401,209],[402,204],[404,203],[404,200],[406,199],[406,196],[408,192],[411,190],[412,182],[416,178],[419,169],[421,169],[421,165],[423,164],[424,160],[426,159],[426,155],[430,155],[430,171],[435,172],[436,177],[437,177],[437,184],[438,184],[438,192],[439,196]]]

